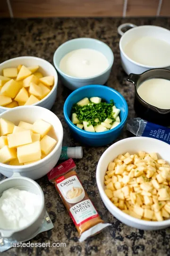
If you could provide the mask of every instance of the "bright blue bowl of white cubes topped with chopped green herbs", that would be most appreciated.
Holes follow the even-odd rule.
[[[73,91],[64,104],[64,117],[73,136],[89,146],[114,141],[127,119],[124,97],[103,85],[87,85]]]

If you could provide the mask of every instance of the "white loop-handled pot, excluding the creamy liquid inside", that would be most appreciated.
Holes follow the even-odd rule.
[[[127,30],[127,32],[123,33],[122,29],[125,27],[132,27],[131,29]],[[133,39],[137,39],[139,37],[154,37],[159,38],[161,40],[166,41],[167,43],[170,42],[170,30],[163,28],[163,27],[157,27],[157,26],[139,26],[136,27],[136,25],[131,23],[125,23],[118,27],[118,33],[120,36],[120,42],[119,42],[119,48],[120,48],[120,59],[121,64],[124,69],[124,71],[129,73],[135,73],[135,74],[141,74],[145,71],[153,68],[167,68],[170,69],[170,60],[169,64],[165,64],[164,66],[147,66],[140,63],[137,63],[136,61],[129,58],[125,52],[124,47]]]

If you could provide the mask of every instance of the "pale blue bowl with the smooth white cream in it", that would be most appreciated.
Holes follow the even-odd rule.
[[[93,38],[69,40],[58,47],[53,57],[61,82],[70,90],[103,85],[109,79],[113,60],[110,47]]]

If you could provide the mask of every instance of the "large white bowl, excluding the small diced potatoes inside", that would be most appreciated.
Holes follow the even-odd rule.
[[[170,226],[170,219],[163,221],[147,221],[142,219],[136,219],[119,210],[107,197],[104,192],[104,175],[107,171],[107,167],[113,159],[119,154],[129,152],[130,154],[135,154],[139,151],[145,151],[148,153],[156,152],[158,156],[166,160],[170,164],[170,145],[162,142],[158,139],[149,137],[131,137],[122,139],[115,144],[111,145],[102,154],[99,163],[97,165],[96,180],[97,186],[102,198],[103,203],[110,213],[119,219],[121,222],[127,224],[128,226],[134,227],[136,229],[144,230],[156,230],[164,229]]]

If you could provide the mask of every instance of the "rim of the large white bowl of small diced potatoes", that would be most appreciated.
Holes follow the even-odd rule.
[[[124,139],[121,139],[119,140],[118,142],[112,144],[111,146],[109,146],[105,151],[104,153],[101,155],[100,159],[99,159],[99,162],[97,164],[97,168],[96,168],[96,183],[97,183],[97,187],[98,187],[98,190],[99,190],[99,193],[100,193],[100,196],[101,196],[101,199],[102,199],[102,202],[104,203],[104,201],[106,202],[106,204],[108,204],[111,208],[112,211],[116,211],[117,214],[119,214],[119,216],[121,218],[124,218],[124,219],[129,219],[131,222],[135,222],[136,224],[140,224],[140,225],[146,225],[146,226],[153,226],[153,227],[163,227],[165,225],[170,225],[170,219],[166,219],[166,220],[162,220],[162,221],[150,221],[150,220],[144,220],[144,219],[137,219],[135,217],[131,217],[130,215],[128,215],[127,213],[123,212],[122,210],[120,210],[118,207],[116,207],[111,201],[110,199],[107,197],[107,195],[105,194],[104,192],[104,189],[102,188],[102,181],[100,179],[100,165],[102,163],[102,161],[104,160],[105,156],[107,155],[108,152],[110,152],[111,150],[113,150],[113,148],[116,148],[117,145],[120,145],[120,144],[124,144],[124,141],[132,141],[132,140],[137,140],[137,141],[142,141],[142,140],[148,140],[148,143],[152,143],[153,141],[157,142],[158,144],[160,143],[161,146],[165,146],[168,144],[164,141],[161,141],[161,140],[158,140],[158,139],[155,139],[155,138],[150,138],[150,137],[130,137],[130,138],[124,138]],[[105,203],[104,203],[105,204]],[[109,210],[110,212],[110,210]],[[111,215],[113,215],[111,212],[110,212]],[[120,220],[121,221],[121,220]],[[131,225],[129,225],[131,226]]]

